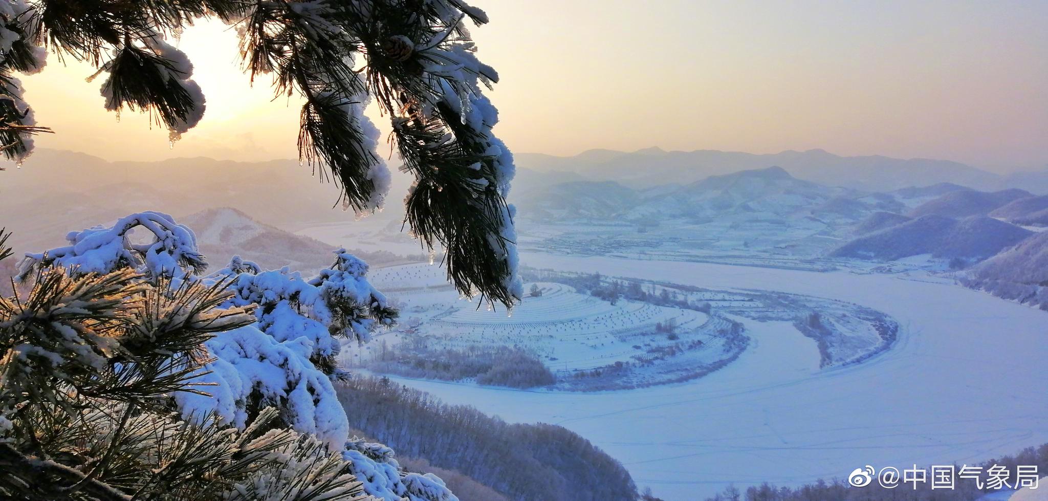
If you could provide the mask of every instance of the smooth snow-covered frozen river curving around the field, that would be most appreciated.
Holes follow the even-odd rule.
[[[623,461],[639,486],[694,500],[728,483],[798,484],[857,466],[964,463],[1048,441],[1048,313],[903,276],[525,255],[537,267],[857,303],[902,326],[889,351],[818,370],[791,324],[743,320],[736,363],[678,385],[603,393],[401,379],[510,421],[563,424]]]

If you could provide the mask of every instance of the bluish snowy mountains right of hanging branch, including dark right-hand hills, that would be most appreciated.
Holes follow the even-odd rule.
[[[780,167],[648,189],[573,180],[528,190],[518,201],[525,228],[633,223],[655,228],[646,230],[638,242],[659,252],[690,250],[674,241],[695,242],[691,250],[702,252],[715,247],[697,242],[712,241],[722,249],[727,242],[727,249],[736,252],[876,261],[927,255],[960,259],[957,265],[1029,238],[1033,232],[1022,225],[1035,224],[1048,203],[1048,196],[1025,190],[984,192],[949,182],[886,192],[831,187],[799,179]],[[599,248],[589,233],[559,237],[562,242],[572,238],[581,241],[568,247],[575,252]],[[640,237],[619,232],[614,238]]]

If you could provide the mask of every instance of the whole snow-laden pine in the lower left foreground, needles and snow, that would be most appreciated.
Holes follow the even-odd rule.
[[[0,497],[457,501],[349,436],[339,337],[397,317],[366,263],[206,275],[156,212],[66,238],[20,263],[31,292],[0,298]]]

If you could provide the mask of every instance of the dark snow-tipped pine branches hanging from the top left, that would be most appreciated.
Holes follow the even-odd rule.
[[[493,133],[498,112],[482,87],[466,22],[486,22],[461,0],[0,0],[0,147],[18,161],[39,132],[15,72],[39,71],[45,48],[97,68],[107,109],[139,110],[177,140],[202,118],[193,65],[168,43],[194,21],[219,19],[240,35],[253,81],[299,95],[299,156],[339,184],[344,208],[381,206],[390,173],[376,152],[374,102],[415,177],[407,223],[446,252],[449,278],[466,295],[510,306],[517,276],[514,208],[505,201],[512,155]]]

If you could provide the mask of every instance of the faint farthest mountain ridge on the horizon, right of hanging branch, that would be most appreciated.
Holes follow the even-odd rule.
[[[594,150],[568,157],[517,153],[515,158],[519,167],[534,171],[570,171],[593,180],[615,180],[636,188],[686,184],[708,176],[779,166],[800,179],[867,191],[949,182],[979,190],[1024,188],[1048,193],[1048,170],[999,175],[951,160],[838,156],[825,150],[754,154],[648,148],[635,152]]]

